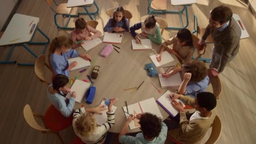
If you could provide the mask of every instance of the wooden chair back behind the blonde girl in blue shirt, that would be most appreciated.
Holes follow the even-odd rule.
[[[45,55],[41,54],[37,57],[37,60],[35,61],[35,75],[40,79],[41,82],[50,85],[50,83],[45,80],[45,77],[43,75],[44,66],[46,66],[53,73],[52,68],[47,63],[45,63]]]

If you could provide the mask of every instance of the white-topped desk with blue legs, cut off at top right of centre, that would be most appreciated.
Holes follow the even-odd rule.
[[[152,3],[152,0],[149,0],[149,5]],[[167,11],[167,10],[154,10],[152,9],[151,11],[149,11],[150,8],[148,8],[149,11],[149,15],[151,15],[151,13],[155,13],[155,15],[157,16],[157,13],[160,14],[164,14],[164,13],[177,13],[179,14],[179,19],[181,22],[181,27],[166,27],[165,29],[183,29],[183,28],[187,28],[189,25],[189,15],[187,12],[187,6],[191,6],[192,4],[197,3],[197,0],[171,0],[171,4],[176,6],[176,5],[182,5],[183,9],[181,11]],[[182,17],[181,14],[185,11],[185,15],[186,15],[186,21],[187,24],[185,26],[183,26],[183,21],[182,21]]]

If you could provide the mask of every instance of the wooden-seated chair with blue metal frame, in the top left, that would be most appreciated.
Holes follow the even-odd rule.
[[[56,11],[51,7],[52,2],[54,1],[55,5],[57,6]],[[69,20],[71,17],[78,17],[79,15],[70,15],[70,10],[71,8],[67,8],[67,3],[61,3],[60,5],[57,5],[55,0],[46,0],[47,4],[50,6],[51,10],[55,13],[54,15],[54,23],[59,29],[74,29],[74,27],[67,27],[69,24]],[[59,26],[57,24],[56,17],[57,15],[62,15],[63,17],[66,16],[68,17],[67,22],[64,27]]]

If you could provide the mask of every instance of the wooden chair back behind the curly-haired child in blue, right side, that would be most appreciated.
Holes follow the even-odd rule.
[[[209,77],[209,80],[213,88],[213,94],[216,96],[216,99],[219,99],[222,92],[222,84],[219,76]]]

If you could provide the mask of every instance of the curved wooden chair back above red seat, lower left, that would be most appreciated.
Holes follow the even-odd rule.
[[[28,104],[26,104],[23,109],[23,115],[27,124],[29,124],[29,126],[36,129],[37,131],[42,131],[42,132],[50,131],[49,129],[46,129],[37,123],[34,117],[34,113],[32,112],[32,109]]]

